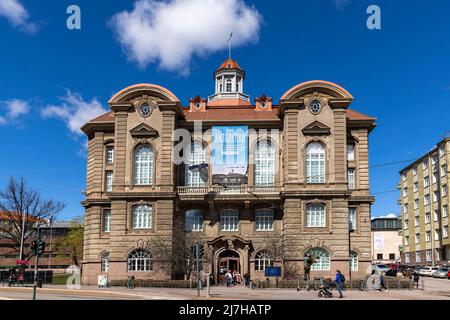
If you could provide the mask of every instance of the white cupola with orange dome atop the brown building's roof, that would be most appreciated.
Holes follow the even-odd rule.
[[[214,72],[215,94],[208,97],[208,106],[250,106],[244,94],[245,71],[229,58]]]

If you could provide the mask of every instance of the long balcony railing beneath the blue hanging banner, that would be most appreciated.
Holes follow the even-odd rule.
[[[182,196],[203,196],[214,193],[216,195],[264,195],[277,194],[281,191],[279,186],[205,186],[205,187],[178,187],[178,194]]]

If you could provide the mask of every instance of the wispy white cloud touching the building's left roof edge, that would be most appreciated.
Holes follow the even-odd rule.
[[[96,98],[84,101],[80,94],[70,90],[60,100],[60,105],[48,105],[42,109],[41,116],[63,120],[70,132],[77,135],[83,134],[80,128],[88,121],[108,112]]]

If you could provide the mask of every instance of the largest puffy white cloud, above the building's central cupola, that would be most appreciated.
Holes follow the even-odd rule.
[[[141,67],[189,73],[191,58],[259,40],[262,16],[243,0],[138,0],[114,15],[114,33],[130,60]]]

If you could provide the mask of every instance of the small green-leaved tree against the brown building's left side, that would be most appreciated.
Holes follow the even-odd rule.
[[[72,264],[80,266],[83,258],[83,217],[78,216],[70,222],[70,231],[56,241],[56,258],[63,258],[70,255]]]

